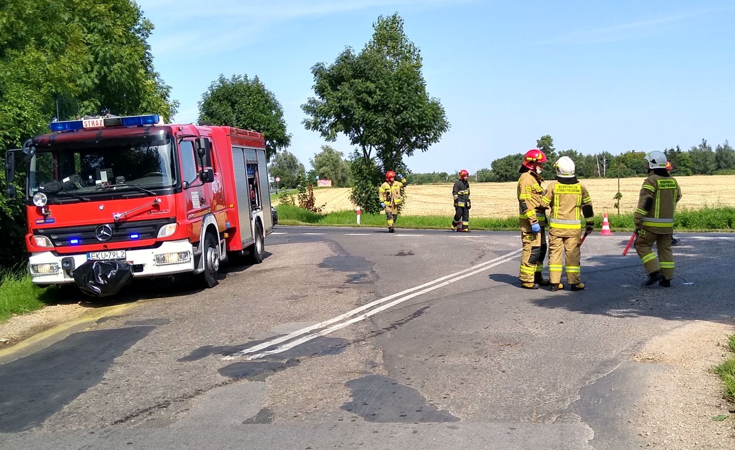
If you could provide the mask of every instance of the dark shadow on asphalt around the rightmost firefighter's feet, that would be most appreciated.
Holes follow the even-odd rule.
[[[540,307],[617,318],[650,316],[730,323],[735,316],[735,294],[726,285],[732,267],[729,255],[735,253],[735,245],[676,246],[674,251],[676,268],[671,287],[644,286],[645,269],[631,249],[625,257],[583,255],[584,290],[570,291],[566,276],[562,276],[564,291],[551,292],[542,287],[534,291],[532,301]]]

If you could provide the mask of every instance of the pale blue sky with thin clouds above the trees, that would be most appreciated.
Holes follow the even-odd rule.
[[[549,134],[583,153],[735,140],[732,1],[140,0],[154,63],[193,122],[219,74],[257,75],[306,167],[325,143],[301,125],[312,65],[398,12],[451,129],[415,172],[490,167]],[[348,154],[345,137],[330,143]]]

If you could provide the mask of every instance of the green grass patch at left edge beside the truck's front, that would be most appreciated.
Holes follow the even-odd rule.
[[[55,288],[34,285],[29,274],[6,271],[0,279],[0,321],[6,321],[13,314],[40,310],[52,301],[56,292]]]

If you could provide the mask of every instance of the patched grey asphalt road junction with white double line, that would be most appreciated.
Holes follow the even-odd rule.
[[[513,232],[279,226],[213,289],[138,283],[0,357],[0,448],[637,449],[659,368],[631,355],[735,315],[735,235],[678,237],[670,289],[616,233],[552,293],[520,289]]]

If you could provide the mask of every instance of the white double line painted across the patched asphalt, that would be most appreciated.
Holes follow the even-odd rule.
[[[224,357],[223,359],[230,360],[230,359],[234,359],[234,358],[237,358],[237,357],[241,357],[241,356],[243,356],[245,354],[257,353],[258,351],[261,351],[261,350],[264,350],[264,349],[268,349],[268,347],[270,347],[270,346],[274,346],[276,344],[286,342],[287,340],[291,340],[294,337],[298,337],[298,336],[304,335],[306,333],[312,332],[315,329],[321,329],[321,328],[324,328],[326,326],[329,326],[329,325],[332,325],[332,324],[336,324],[337,322],[344,321],[345,319],[350,318],[351,316],[356,315],[359,312],[363,312],[365,310],[368,310],[371,307],[374,307],[374,306],[379,305],[381,303],[385,303],[386,301],[390,301],[390,300],[395,299],[397,297],[401,297],[400,299],[398,299],[396,301],[392,301],[389,304],[384,305],[383,307],[379,307],[379,308],[376,308],[375,310],[372,310],[372,311],[370,311],[368,313],[365,313],[363,315],[359,315],[358,317],[356,317],[354,319],[351,319],[348,322],[345,322],[343,324],[337,324],[337,325],[335,325],[335,326],[337,326],[337,328],[334,328],[334,326],[332,326],[330,328],[323,329],[321,332],[319,332],[316,335],[306,335],[306,336],[301,337],[300,339],[295,340],[293,342],[304,343],[307,340],[314,339],[315,337],[319,337],[320,335],[323,336],[324,334],[329,334],[329,333],[331,333],[331,332],[333,332],[333,331],[335,331],[337,329],[343,328],[344,326],[348,326],[350,324],[353,324],[356,321],[362,321],[363,319],[368,318],[370,315],[376,314],[377,312],[380,312],[382,310],[385,310],[387,308],[390,308],[390,307],[394,306],[395,304],[398,304],[398,303],[401,303],[403,301],[412,299],[415,296],[421,295],[423,293],[430,292],[431,290],[434,290],[434,289],[437,289],[439,287],[448,285],[450,283],[456,282],[459,279],[463,279],[463,278],[465,278],[467,276],[471,276],[471,275],[477,274],[477,273],[479,273],[481,271],[484,271],[484,270],[486,270],[488,268],[495,267],[495,265],[499,265],[499,264],[502,264],[503,262],[507,262],[509,260],[512,260],[515,257],[515,255],[517,255],[518,253],[520,253],[520,251],[521,251],[521,249],[517,249],[517,250],[511,251],[509,253],[503,254],[502,256],[496,257],[496,258],[494,258],[492,260],[488,260],[488,261],[485,261],[485,262],[481,262],[480,264],[473,265],[472,267],[466,268],[466,269],[464,269],[462,271],[458,271],[458,272],[455,272],[453,274],[449,274],[449,275],[445,275],[445,276],[442,276],[442,277],[437,278],[437,279],[433,279],[430,282],[424,283],[423,285],[418,285],[418,286],[415,286],[415,287],[409,287],[409,289],[401,290],[401,292],[394,293],[394,294],[392,294],[390,296],[383,297],[382,299],[377,299],[375,301],[371,301],[368,304],[364,304],[361,307],[355,308],[354,310],[345,312],[344,314],[338,315],[337,317],[334,317],[334,318],[331,318],[328,321],[323,321],[323,322],[321,322],[319,324],[315,324],[315,325],[312,325],[312,326],[306,326],[305,328],[298,329],[295,332],[289,333],[288,335],[281,336],[281,337],[276,337],[275,339],[271,339],[271,340],[268,340],[266,342],[259,343],[259,344],[255,345],[255,346],[252,346],[252,347],[248,348],[248,349],[243,349],[243,350],[237,351],[237,352],[235,352],[235,353],[233,353],[233,354],[231,354],[229,356]],[[439,284],[437,285],[437,283],[439,283]],[[412,293],[412,292],[417,291],[417,290],[419,292],[417,292],[415,294],[412,294],[410,296],[406,296],[406,294]],[[304,339],[306,339],[306,340],[304,340]],[[298,345],[298,343],[296,343],[295,345]],[[287,349],[290,349],[291,347],[288,347],[287,349],[284,348],[284,347],[290,346],[291,344],[292,343],[284,344],[284,346],[279,346],[277,349],[274,349],[271,352],[279,353],[281,351],[285,351]],[[265,354],[271,354],[271,353],[264,352],[262,354],[256,354],[256,355],[254,355],[254,356],[252,356],[252,357],[250,357],[248,359],[250,359],[250,360],[257,359],[259,357],[265,356]]]

